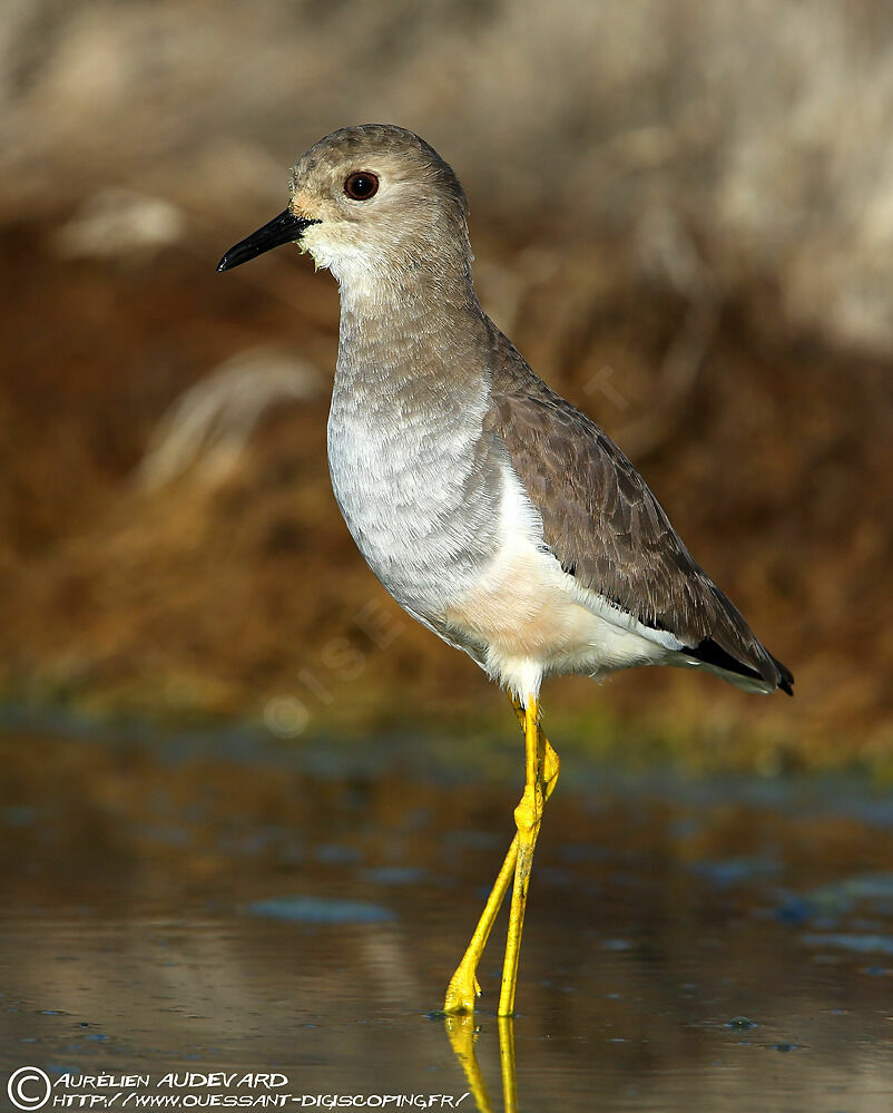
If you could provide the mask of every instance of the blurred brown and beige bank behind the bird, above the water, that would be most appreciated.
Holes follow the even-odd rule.
[[[893,772],[889,6],[7,0],[0,96],[10,713],[511,732],[338,516],[333,280],[215,273],[307,146],[392,121],[463,182],[485,309],[797,680],[562,681],[552,733]]]

